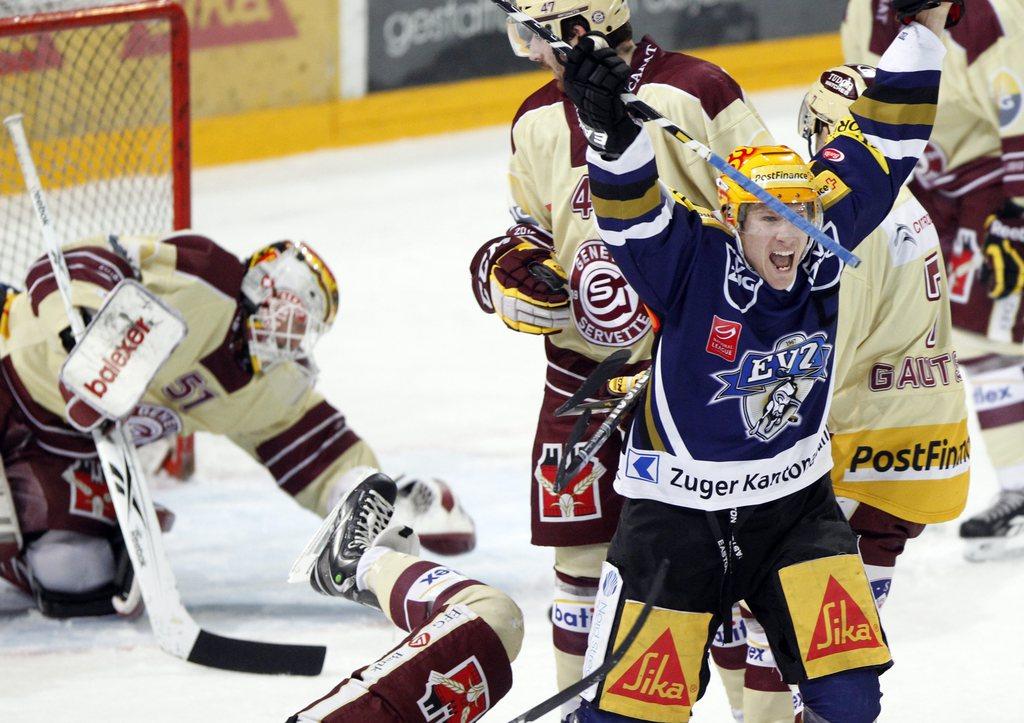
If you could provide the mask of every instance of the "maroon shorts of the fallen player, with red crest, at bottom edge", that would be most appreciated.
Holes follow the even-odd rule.
[[[495,631],[469,607],[449,605],[294,720],[472,723],[511,686],[512,667]]]

